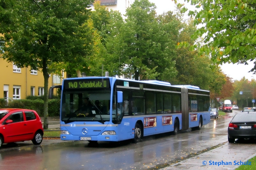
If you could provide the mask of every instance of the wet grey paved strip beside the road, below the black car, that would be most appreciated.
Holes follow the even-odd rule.
[[[161,170],[200,169],[200,170],[235,170],[241,162],[256,156],[255,144],[228,143],[227,137],[222,146],[204,152],[192,158],[172,164]],[[213,161],[217,164],[213,165]],[[239,162],[239,164],[237,164]],[[249,167],[248,167],[249,168]]]

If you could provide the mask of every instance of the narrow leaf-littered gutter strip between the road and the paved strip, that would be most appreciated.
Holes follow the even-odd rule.
[[[202,151],[198,151],[197,153],[188,154],[187,157],[174,158],[174,160],[170,160],[168,163],[165,162],[165,163],[163,163],[163,164],[157,164],[157,165],[155,165],[154,167],[147,168],[147,170],[163,169],[163,168],[165,168],[165,167],[171,166],[171,165],[173,165],[173,164],[177,164],[177,163],[179,163],[179,162],[181,162],[181,161],[184,161],[184,160],[186,160],[186,159],[189,159],[189,158],[193,158],[193,157],[195,157],[195,156],[198,156],[198,155],[200,155],[200,154],[202,154],[202,153],[204,153],[204,152],[208,152],[208,151],[211,151],[211,150],[213,150],[213,149],[216,149],[216,148],[218,148],[218,147],[220,147],[220,146],[223,146],[223,145],[226,144],[226,143],[227,143],[227,142],[220,143],[220,144],[215,145],[215,146],[212,146],[212,147],[210,147],[210,148],[206,148],[206,149],[204,149],[204,150],[202,150]],[[177,164],[177,165],[175,165],[175,166],[178,166],[178,165],[180,165],[180,164]]]

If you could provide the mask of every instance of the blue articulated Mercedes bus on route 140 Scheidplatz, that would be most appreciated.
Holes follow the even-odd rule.
[[[210,92],[196,86],[105,76],[65,79],[49,98],[54,88],[61,89],[61,140],[137,143],[210,122]]]

